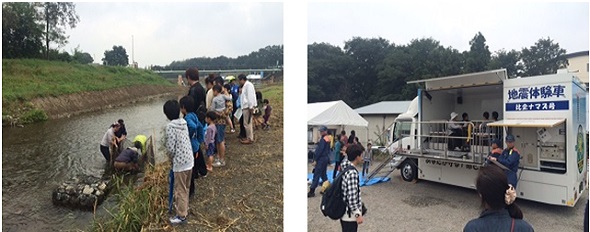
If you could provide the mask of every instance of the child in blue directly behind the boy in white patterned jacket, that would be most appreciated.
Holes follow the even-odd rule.
[[[184,120],[186,120],[194,156],[194,165],[188,193],[189,198],[195,194],[194,180],[197,178],[197,175],[207,175],[207,169],[203,165],[205,163],[203,155],[199,156],[200,144],[205,141],[205,132],[203,131],[203,124],[197,118],[195,111],[195,101],[192,97],[184,96],[180,99],[180,112],[184,115]],[[201,162],[201,166],[198,165],[198,162]]]

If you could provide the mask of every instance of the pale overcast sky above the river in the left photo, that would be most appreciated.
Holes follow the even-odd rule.
[[[68,29],[76,46],[102,63],[121,45],[139,67],[168,65],[194,57],[237,57],[283,44],[282,3],[99,3],[78,2],[80,22]],[[53,45],[55,46],[55,45]]]

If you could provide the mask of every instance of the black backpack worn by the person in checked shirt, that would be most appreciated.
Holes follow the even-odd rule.
[[[344,194],[342,193],[342,176],[351,169],[354,169],[354,166],[350,165],[341,173],[338,173],[336,179],[334,179],[330,187],[322,195],[320,210],[324,216],[338,220],[346,213],[346,202],[344,202]]]

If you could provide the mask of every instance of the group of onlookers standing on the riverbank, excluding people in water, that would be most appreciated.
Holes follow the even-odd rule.
[[[234,79],[224,84],[221,76],[209,75],[206,90],[197,68],[189,68],[185,75],[190,86],[187,96],[164,104],[164,114],[170,120],[166,149],[172,160],[176,209],[176,216],[170,218],[172,224],[186,222],[188,200],[195,194],[194,180],[226,165],[225,135],[226,130],[236,132],[234,116],[239,119],[240,143],[254,143],[253,114],[259,104],[255,87],[244,74],[238,76],[239,85]],[[270,116],[271,108],[267,107]]]

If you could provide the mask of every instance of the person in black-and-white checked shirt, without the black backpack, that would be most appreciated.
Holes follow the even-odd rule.
[[[364,221],[359,173],[357,169],[363,163],[363,151],[364,148],[359,144],[351,144],[346,148],[346,156],[350,162],[342,163],[342,170],[350,165],[354,167],[342,174],[342,195],[344,202],[346,202],[346,212],[340,219],[343,232],[356,232],[358,225]]]

